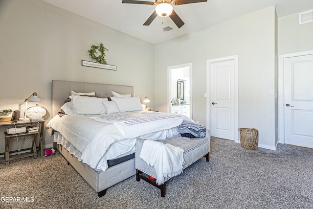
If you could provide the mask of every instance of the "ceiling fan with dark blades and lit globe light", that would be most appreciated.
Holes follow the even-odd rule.
[[[207,0],[156,0],[156,2],[152,1],[141,1],[141,0],[123,0],[122,3],[135,3],[135,4],[148,4],[148,5],[156,5],[156,10],[152,15],[148,18],[148,20],[143,23],[143,25],[150,25],[152,21],[156,18],[156,16],[167,17],[170,16],[172,21],[180,28],[185,23],[179,18],[176,12],[173,10],[173,5],[181,5],[187,3],[198,3],[205,2]]]

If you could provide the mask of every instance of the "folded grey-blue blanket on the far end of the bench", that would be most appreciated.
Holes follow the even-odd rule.
[[[182,123],[178,126],[178,132],[182,137],[188,138],[204,138],[206,128],[205,126],[183,120]]]

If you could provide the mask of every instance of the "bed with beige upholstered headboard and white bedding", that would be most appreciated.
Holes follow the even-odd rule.
[[[133,115],[136,115],[137,117],[137,115],[139,114],[139,116],[141,117],[147,114],[151,115],[154,113],[155,118],[164,117],[164,115],[157,115],[161,113],[151,111],[128,111],[128,107],[125,107],[125,104],[123,108],[126,109],[118,106],[119,109],[123,109],[122,112],[111,112],[111,108],[109,108],[110,106],[105,106],[106,111],[108,111],[105,114],[101,112],[102,114],[95,115],[83,114],[82,116],[72,116],[70,114],[67,114],[65,116],[59,116],[60,108],[64,107],[65,100],[67,100],[68,97],[71,96],[71,102],[73,106],[75,101],[74,98],[82,99],[82,96],[72,96],[72,91],[74,93],[95,92],[97,99],[109,97],[109,100],[111,100],[110,98],[115,99],[115,103],[117,104],[124,104],[125,102],[121,103],[121,101],[125,101],[126,98],[118,99],[119,96],[116,98],[112,97],[112,93],[117,93],[120,95],[130,95],[131,98],[134,98],[135,100],[135,97],[133,97],[134,88],[131,86],[123,85],[52,80],[53,118],[48,122],[46,128],[52,129],[51,137],[54,140],[55,148],[64,156],[67,162],[71,164],[72,167],[86,180],[86,182],[96,192],[98,192],[99,197],[105,195],[107,188],[109,188],[110,186],[113,186],[135,175],[136,171],[134,166],[134,145],[138,135],[136,131],[140,131],[141,133],[138,138],[144,137],[144,139],[154,140],[162,138],[165,139],[177,135],[176,126],[177,124],[181,123],[182,119],[191,120],[188,117],[180,115],[173,116],[173,114],[168,114],[166,115],[166,117],[168,117],[169,122],[161,122],[164,124],[168,124],[168,128],[162,128],[162,130],[147,128],[146,130],[146,128],[138,128],[144,126],[141,126],[140,124],[138,126],[136,123],[137,121],[139,121],[139,119],[132,118]],[[90,100],[91,97],[92,96],[89,97]],[[102,102],[103,104],[112,105],[112,101]],[[69,104],[70,102],[66,103]],[[138,107],[138,105],[136,107]],[[111,121],[112,116],[114,116],[114,118],[116,118],[117,116],[118,118],[127,117],[130,119],[127,120],[127,123],[126,121],[116,122],[116,119],[114,119],[114,121]],[[91,124],[82,125],[81,122],[83,120],[88,120],[88,123]],[[140,120],[142,120],[142,118],[140,118]],[[158,119],[155,119],[151,122],[156,123],[156,120]],[[71,124],[69,121],[75,122]],[[121,127],[119,127],[122,126],[121,124],[123,125],[122,128],[126,128],[125,131],[122,131]],[[63,128],[61,128],[61,126]],[[94,129],[96,129],[98,132],[93,133],[93,130],[91,130],[92,128],[87,129],[89,126],[96,127]],[[141,129],[144,129],[144,131],[142,132]],[[64,132],[64,130],[69,130],[69,132]],[[84,133],[84,131],[82,130],[87,133]],[[94,139],[93,136],[99,137],[97,139]],[[86,138],[86,141],[83,141],[84,138]],[[82,140],[82,142],[80,140]],[[120,151],[120,146],[122,146],[122,151]],[[79,149],[78,147],[81,147],[81,149]],[[88,149],[89,151],[87,151]],[[97,150],[97,152],[99,151],[100,153],[98,154],[95,150]],[[116,152],[116,150],[118,151]],[[113,155],[109,156],[109,153],[113,153]]]

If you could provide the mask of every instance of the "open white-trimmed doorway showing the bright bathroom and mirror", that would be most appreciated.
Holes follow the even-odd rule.
[[[192,118],[192,64],[170,66],[167,71],[168,112]]]

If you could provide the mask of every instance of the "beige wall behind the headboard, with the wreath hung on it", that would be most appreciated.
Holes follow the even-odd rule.
[[[91,61],[90,46],[100,42],[116,71],[82,66]],[[19,110],[37,92],[51,113],[52,79],[130,85],[141,101],[154,97],[154,45],[41,0],[0,0],[0,71],[0,109]],[[46,132],[45,144],[51,143]]]

